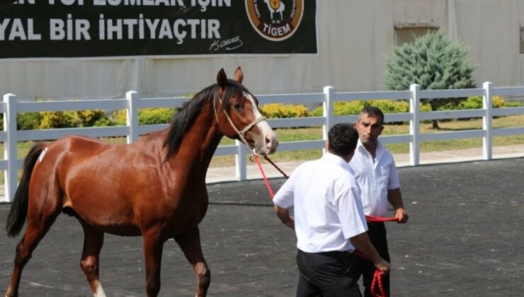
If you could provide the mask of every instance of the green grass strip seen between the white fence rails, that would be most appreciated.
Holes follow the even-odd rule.
[[[482,119],[472,120],[451,120],[445,122],[439,122],[440,129],[432,129],[431,123],[421,123],[420,130],[421,134],[429,133],[442,133],[452,131],[462,131],[469,129],[482,129]],[[512,115],[508,117],[499,117],[493,120],[494,128],[507,128],[507,127],[524,127],[524,115]],[[288,141],[306,141],[306,140],[318,140],[322,139],[321,127],[310,127],[310,128],[286,128],[286,129],[275,129],[275,133],[278,136],[280,142]],[[382,135],[401,135],[409,134],[408,124],[386,124]],[[104,141],[109,141],[117,144],[124,144],[125,137],[120,138],[108,138]],[[20,142],[18,143],[18,158],[24,158],[28,153],[33,141]],[[225,138],[220,142],[221,146],[233,145],[232,139]],[[493,139],[494,146],[507,146],[511,144],[524,144],[524,134],[513,135],[513,136],[496,136]],[[482,147],[482,139],[456,139],[456,140],[444,140],[444,141],[424,141],[421,142],[421,152],[431,151],[445,151],[445,150],[460,150],[465,148],[478,148]],[[3,144],[0,144],[0,148],[4,148]],[[387,148],[392,153],[409,153],[409,144],[388,144]],[[285,161],[302,161],[312,160],[321,156],[320,149],[302,150],[302,151],[277,151],[273,156],[272,160],[275,162]],[[211,161],[211,167],[224,167],[234,166],[234,156],[216,156]],[[19,170],[20,171],[20,170]],[[20,175],[20,173],[19,173]],[[4,175],[0,177],[0,183],[4,183]]]

